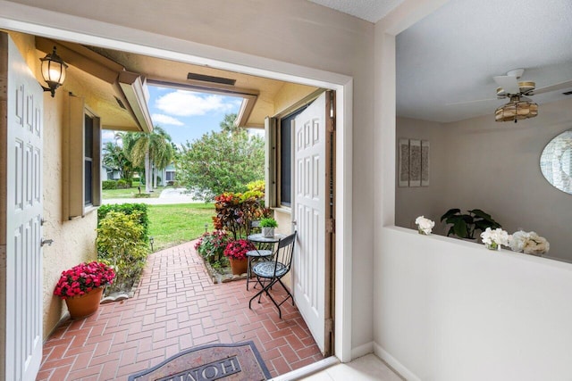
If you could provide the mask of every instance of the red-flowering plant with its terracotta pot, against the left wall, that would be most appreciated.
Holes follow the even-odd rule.
[[[62,272],[54,294],[68,306],[71,319],[85,318],[97,311],[104,286],[114,281],[115,271],[105,263],[80,263]]]

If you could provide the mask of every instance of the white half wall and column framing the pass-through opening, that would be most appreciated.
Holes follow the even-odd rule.
[[[406,0],[375,26],[374,351],[407,379],[569,379],[572,265],[393,227],[394,36],[442,3]],[[515,144],[538,157],[538,140]]]

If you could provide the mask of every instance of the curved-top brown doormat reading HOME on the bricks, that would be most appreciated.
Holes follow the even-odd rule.
[[[238,344],[209,344],[191,348],[164,360],[151,369],[129,377],[129,381],[266,380],[270,373],[252,341]]]

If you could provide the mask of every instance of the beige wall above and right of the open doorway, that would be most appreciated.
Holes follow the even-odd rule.
[[[14,4],[35,8],[22,10]],[[168,50],[173,52],[172,57],[180,56],[183,61],[191,54],[202,57],[198,62],[206,64],[223,61],[226,69],[244,70],[244,66],[251,66],[266,70],[259,72],[286,73],[288,75],[281,76],[285,80],[298,80],[297,75],[307,77],[313,79],[312,83],[307,83],[312,86],[320,86],[320,81],[332,83],[332,79],[340,81],[334,83],[344,84],[343,96],[351,99],[354,106],[348,106],[351,102],[338,104],[338,120],[343,120],[338,137],[348,146],[341,150],[337,145],[337,154],[340,162],[351,163],[351,167],[341,165],[337,179],[344,184],[348,178],[357,186],[342,186],[344,194],[338,195],[340,199],[348,197],[349,203],[338,210],[342,214],[338,215],[341,218],[336,226],[341,230],[339,236],[344,238],[337,241],[336,246],[337,275],[340,278],[341,269],[351,271],[352,284],[350,287],[337,284],[336,292],[351,290],[354,298],[344,297],[351,306],[346,311],[340,311],[336,305],[336,329],[342,326],[344,331],[351,329],[350,348],[364,344],[371,347],[374,217],[372,208],[364,200],[372,199],[373,195],[373,24],[305,0],[200,0],[191,3],[173,0],[168,6],[137,0],[119,3],[102,0],[85,4],[71,0],[50,3],[0,0],[0,6],[8,18],[16,20],[4,23],[12,28],[19,28],[18,20],[33,19],[40,8],[54,12],[41,19],[39,34],[50,34],[51,26],[56,29],[65,26],[66,34],[77,37],[79,42],[82,42],[80,34],[93,36],[92,41],[102,36],[105,45],[105,36],[115,32],[114,38],[122,43],[114,47],[123,50],[133,49],[130,44],[136,44],[148,46],[147,49],[136,49],[138,53],[144,50],[145,54],[164,56],[164,51]],[[105,28],[96,21],[105,22]],[[76,32],[80,34],[76,35]],[[156,47],[162,50],[156,50]],[[249,72],[256,73],[257,70]],[[344,219],[351,221],[344,225]],[[352,230],[344,228],[352,224],[355,227]],[[352,239],[352,236],[356,238]],[[346,326],[350,319],[342,319],[345,317],[341,314],[349,314],[354,323]],[[339,343],[339,337],[336,336],[336,352],[341,346],[348,345]]]

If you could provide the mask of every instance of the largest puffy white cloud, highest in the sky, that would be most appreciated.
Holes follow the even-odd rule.
[[[207,112],[231,112],[236,107],[236,100],[229,101],[222,95],[198,94],[185,90],[176,90],[160,96],[156,100],[156,108],[175,116],[205,115]]]

